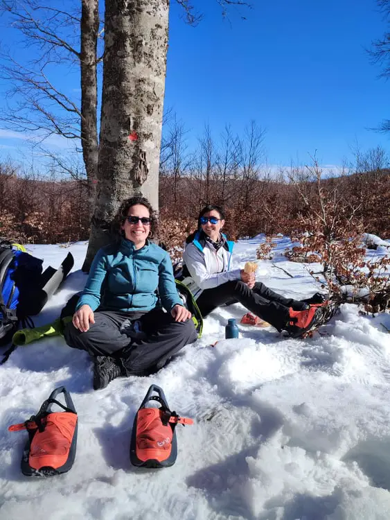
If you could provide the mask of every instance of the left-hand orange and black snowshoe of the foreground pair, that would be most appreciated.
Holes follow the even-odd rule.
[[[63,393],[67,406],[55,399]],[[64,412],[51,412],[57,404]],[[28,441],[21,459],[21,472],[26,476],[53,476],[66,473],[76,458],[78,417],[71,396],[64,386],[53,390],[37,415],[26,422],[12,424],[9,431],[28,431]]]

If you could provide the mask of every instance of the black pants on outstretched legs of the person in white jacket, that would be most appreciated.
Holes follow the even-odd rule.
[[[221,305],[239,302],[251,313],[272,324],[278,331],[285,329],[290,318],[290,307],[294,311],[302,311],[305,308],[303,302],[274,293],[261,282],[256,282],[254,288],[249,289],[243,281],[235,280],[205,289],[196,302],[203,317]]]

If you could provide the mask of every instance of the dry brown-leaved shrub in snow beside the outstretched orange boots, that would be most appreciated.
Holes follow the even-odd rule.
[[[345,286],[351,286],[357,294],[365,289],[367,295],[355,301],[363,301],[371,305],[371,309],[370,302],[375,302],[375,308],[384,310],[381,302],[386,300],[390,289],[386,274],[390,257],[365,260],[362,238],[366,222],[358,216],[360,206],[355,206],[337,184],[323,184],[321,170],[315,162],[313,171],[315,184],[296,182],[296,189],[305,202],[305,211],[297,217],[297,224],[305,232],[297,237],[300,246],[285,252],[285,256],[292,261],[321,263],[323,272],[317,274],[323,276],[333,297],[346,300]],[[317,185],[315,191],[313,185]],[[313,271],[310,274],[320,281]]]

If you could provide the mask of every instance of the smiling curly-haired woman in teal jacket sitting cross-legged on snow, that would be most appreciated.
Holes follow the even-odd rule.
[[[197,338],[177,293],[170,257],[148,240],[156,223],[145,198],[122,203],[114,220],[118,241],[96,254],[65,328],[67,344],[94,359],[95,390],[118,376],[156,372]]]

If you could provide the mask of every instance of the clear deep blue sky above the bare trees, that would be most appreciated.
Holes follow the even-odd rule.
[[[390,112],[389,83],[365,51],[386,30],[375,0],[253,0],[251,10],[232,7],[229,19],[214,0],[193,4],[204,15],[196,27],[171,0],[165,101],[190,146],[205,124],[218,139],[224,125],[242,135],[255,120],[267,130],[269,164],[305,163],[317,150],[322,164],[340,165],[355,146],[390,150],[390,136],[369,130]],[[14,33],[2,34],[17,49]],[[59,74],[77,96],[77,75]],[[0,130],[0,158],[28,160],[15,137]]]

